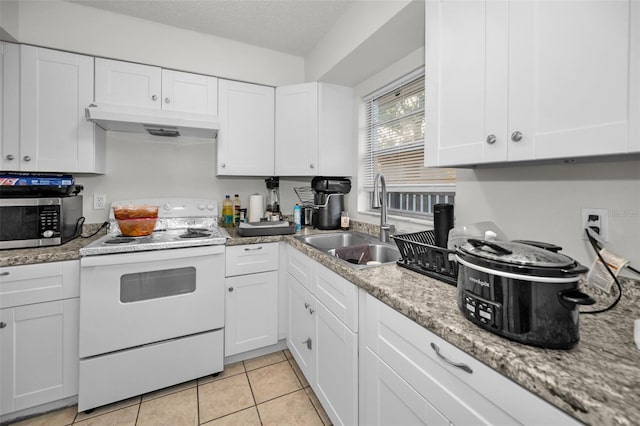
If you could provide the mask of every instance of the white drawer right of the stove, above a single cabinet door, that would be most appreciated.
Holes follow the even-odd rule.
[[[227,247],[226,276],[255,274],[278,269],[278,243]]]

